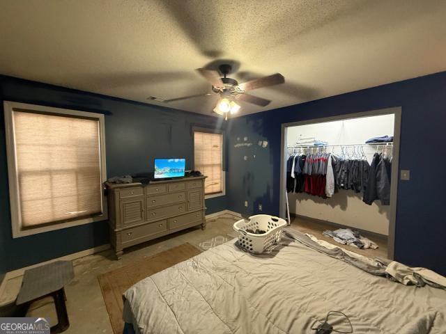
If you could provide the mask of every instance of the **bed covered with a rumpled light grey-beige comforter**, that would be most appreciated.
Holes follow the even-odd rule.
[[[233,239],[141,280],[124,301],[139,334],[315,333],[330,310],[354,333],[446,333],[445,289],[395,283],[291,239],[264,255]]]

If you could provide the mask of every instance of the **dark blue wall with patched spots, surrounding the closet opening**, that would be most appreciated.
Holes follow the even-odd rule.
[[[410,170],[398,185],[395,258],[446,274],[446,72],[231,120],[229,209],[252,214],[261,202],[263,212],[278,214],[282,123],[394,106],[402,113],[399,167]],[[235,148],[244,137],[253,145]]]

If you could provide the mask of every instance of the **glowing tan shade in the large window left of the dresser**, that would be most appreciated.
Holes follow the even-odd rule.
[[[13,118],[22,228],[102,214],[99,121]]]

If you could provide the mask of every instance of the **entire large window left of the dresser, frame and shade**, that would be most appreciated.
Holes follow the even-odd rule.
[[[107,218],[104,116],[4,102],[13,237]]]

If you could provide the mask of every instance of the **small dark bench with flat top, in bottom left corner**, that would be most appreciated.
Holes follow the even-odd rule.
[[[56,306],[57,324],[52,326],[51,333],[61,333],[70,326],[66,308],[65,285],[70,283],[75,273],[70,261],[56,261],[25,271],[22,287],[15,305],[26,308],[34,301],[52,296]]]

